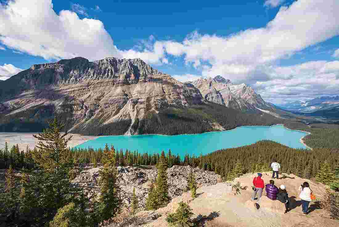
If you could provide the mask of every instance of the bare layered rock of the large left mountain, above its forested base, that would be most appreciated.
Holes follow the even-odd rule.
[[[3,81],[0,88],[0,114],[5,115],[0,116],[0,125],[15,120],[14,114],[30,123],[61,116],[71,132],[91,135],[100,134],[102,128],[105,134],[138,134],[142,119],[159,109],[199,105],[203,99],[194,86],[140,58],[89,62],[76,57],[33,65]]]

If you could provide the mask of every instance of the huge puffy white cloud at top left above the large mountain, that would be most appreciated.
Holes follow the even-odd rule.
[[[53,10],[51,0],[16,0],[0,5],[0,42],[45,59],[77,56],[97,60],[121,56],[100,20]]]

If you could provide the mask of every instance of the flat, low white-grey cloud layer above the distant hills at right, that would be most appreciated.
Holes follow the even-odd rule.
[[[339,93],[339,61],[271,66],[264,71],[270,80],[256,81],[252,86],[266,101],[283,103]]]

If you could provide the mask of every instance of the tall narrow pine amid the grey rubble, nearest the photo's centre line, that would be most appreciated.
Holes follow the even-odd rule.
[[[157,204],[159,207],[164,207],[169,202],[168,185],[167,185],[167,162],[165,153],[162,151],[158,163],[158,175],[155,184],[157,194]]]

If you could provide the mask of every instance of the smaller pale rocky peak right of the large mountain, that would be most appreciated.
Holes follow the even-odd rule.
[[[214,78],[199,78],[191,82],[208,101],[238,110],[272,109],[255,91],[245,84],[233,85],[230,80],[218,75]]]

